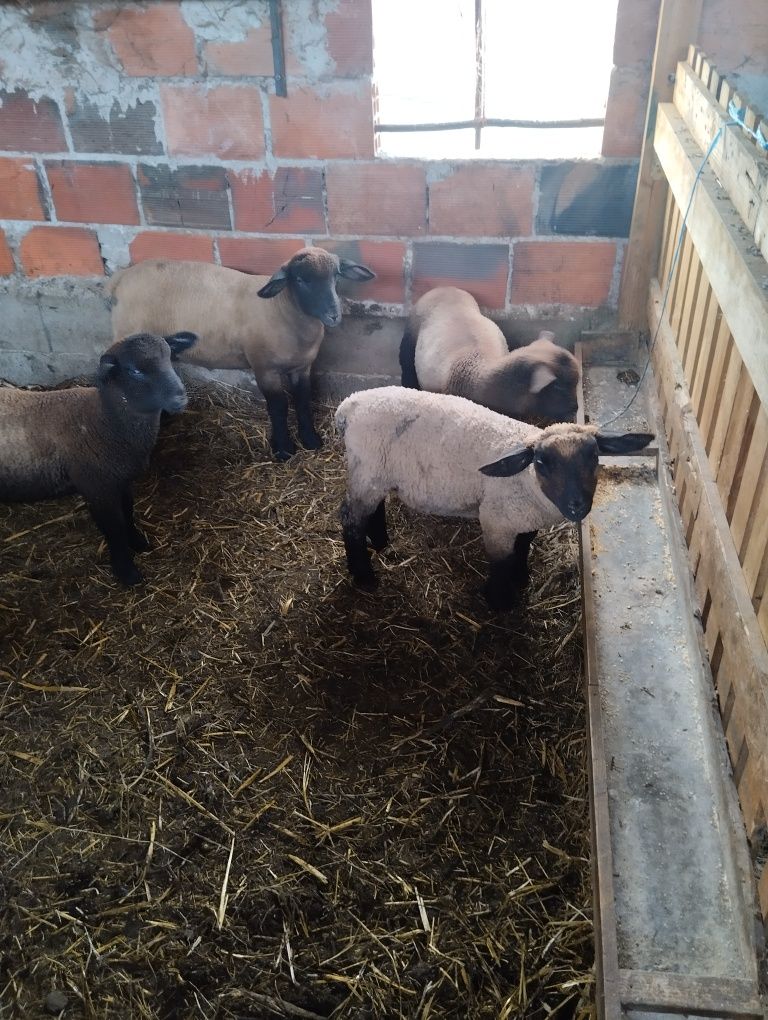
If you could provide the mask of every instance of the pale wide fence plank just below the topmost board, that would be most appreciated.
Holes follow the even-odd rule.
[[[677,204],[684,208],[701,163],[696,142],[669,103],[659,107],[655,148]],[[705,168],[699,180],[687,228],[704,271],[722,308],[739,354],[764,407],[768,407],[768,292],[765,260],[756,254],[738,213]]]

